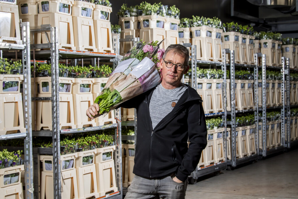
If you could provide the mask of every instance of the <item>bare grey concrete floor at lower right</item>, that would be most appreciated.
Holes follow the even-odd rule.
[[[298,198],[298,149],[198,180],[187,199]]]

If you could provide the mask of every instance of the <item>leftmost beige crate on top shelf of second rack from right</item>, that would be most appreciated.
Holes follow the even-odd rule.
[[[272,39],[261,39],[261,53],[266,55],[266,66],[277,66],[275,46],[277,41]]]

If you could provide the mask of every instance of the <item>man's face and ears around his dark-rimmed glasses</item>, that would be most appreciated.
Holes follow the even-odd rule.
[[[159,63],[159,66],[162,69],[162,85],[168,87],[179,86],[183,74],[186,74],[189,69],[188,64],[184,67],[183,71],[179,71],[176,69],[175,66],[167,68],[165,61],[170,61],[174,64],[181,64],[182,66],[185,66],[185,57],[180,52],[177,52],[175,51],[175,49],[173,49],[167,52],[167,55],[164,58],[164,60],[161,59]]]

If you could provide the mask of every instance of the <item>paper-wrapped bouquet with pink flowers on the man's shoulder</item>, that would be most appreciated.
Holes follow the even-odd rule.
[[[122,102],[142,94],[161,82],[156,63],[162,58],[160,43],[138,42],[122,58],[110,75],[103,91],[95,99],[99,104],[99,114],[105,114]]]

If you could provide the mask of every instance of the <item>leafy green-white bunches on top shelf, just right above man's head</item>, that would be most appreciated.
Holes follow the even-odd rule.
[[[220,28],[222,29],[221,20],[217,17],[209,18],[203,16],[194,16],[193,19],[190,21],[191,27],[198,27],[198,26],[209,26],[212,28]]]

